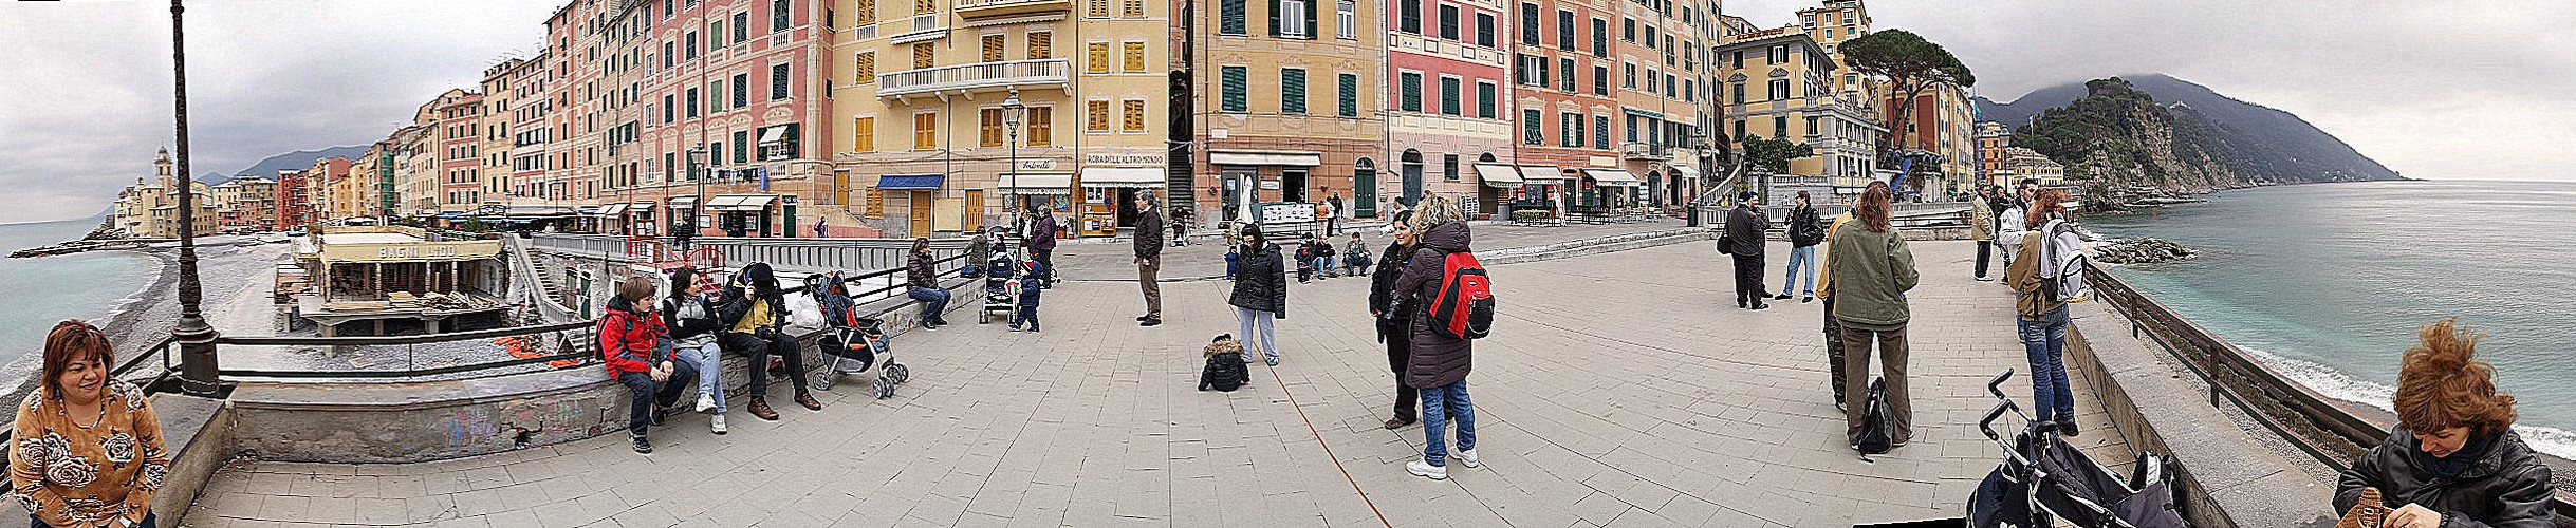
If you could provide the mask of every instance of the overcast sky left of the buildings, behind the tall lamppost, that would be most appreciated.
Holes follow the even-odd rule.
[[[544,44],[551,0],[188,3],[191,170],[384,139]],[[167,3],[8,3],[0,224],[103,211],[173,147]],[[28,46],[33,44],[33,46]]]

